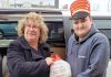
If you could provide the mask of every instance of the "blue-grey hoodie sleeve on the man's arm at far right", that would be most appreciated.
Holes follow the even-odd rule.
[[[102,77],[105,76],[110,57],[110,46],[107,37],[102,36],[94,42],[89,58],[89,67],[78,77]]]

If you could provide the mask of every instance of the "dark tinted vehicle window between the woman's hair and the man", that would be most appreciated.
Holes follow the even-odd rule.
[[[46,22],[49,29],[48,43],[64,46],[64,30],[62,22]]]

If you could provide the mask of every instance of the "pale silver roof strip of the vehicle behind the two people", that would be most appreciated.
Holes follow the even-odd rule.
[[[22,18],[26,13],[34,11],[41,13],[44,18],[53,16],[62,18],[62,16],[71,16],[70,10],[68,9],[46,9],[46,8],[22,8],[22,9],[0,9],[0,18],[3,20]],[[93,19],[111,19],[111,12],[95,12],[91,11],[91,16]]]

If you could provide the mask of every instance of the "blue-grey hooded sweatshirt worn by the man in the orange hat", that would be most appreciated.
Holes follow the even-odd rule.
[[[105,77],[110,57],[109,41],[92,25],[81,42],[78,42],[78,36],[71,35],[67,56],[72,77]]]

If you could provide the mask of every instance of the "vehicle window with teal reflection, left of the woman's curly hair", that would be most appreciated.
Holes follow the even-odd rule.
[[[0,40],[17,36],[17,21],[0,21]]]

